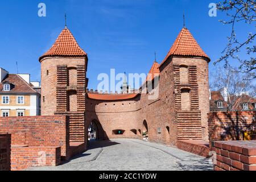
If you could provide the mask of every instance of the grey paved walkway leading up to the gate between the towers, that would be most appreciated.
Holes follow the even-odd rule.
[[[35,167],[29,170],[61,171],[198,171],[212,170],[208,159],[174,147],[135,139],[113,139],[90,142],[84,154],[57,167]]]

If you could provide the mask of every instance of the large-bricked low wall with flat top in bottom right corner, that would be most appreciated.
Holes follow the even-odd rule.
[[[215,171],[256,171],[256,140],[213,142]]]

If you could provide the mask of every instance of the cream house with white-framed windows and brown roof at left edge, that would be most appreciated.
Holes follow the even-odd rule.
[[[30,82],[30,75],[0,69],[0,116],[40,115],[40,87]]]

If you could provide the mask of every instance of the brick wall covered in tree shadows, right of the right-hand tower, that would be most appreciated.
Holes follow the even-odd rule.
[[[243,140],[243,132],[256,130],[256,111],[208,114],[209,140]]]

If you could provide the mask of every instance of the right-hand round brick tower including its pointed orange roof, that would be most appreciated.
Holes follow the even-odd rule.
[[[208,140],[209,56],[187,28],[177,36],[166,63],[174,73],[177,140]]]

